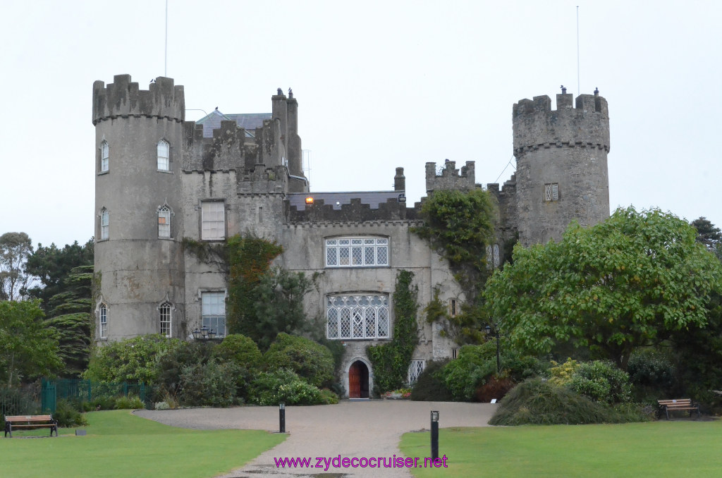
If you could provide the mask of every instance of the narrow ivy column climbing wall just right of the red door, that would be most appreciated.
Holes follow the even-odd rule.
[[[419,288],[412,284],[414,273],[401,270],[393,291],[393,337],[391,342],[371,345],[366,352],[373,364],[374,391],[401,388],[406,383],[414,348],[419,342],[417,310]]]

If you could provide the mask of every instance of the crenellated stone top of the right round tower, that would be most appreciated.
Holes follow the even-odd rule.
[[[552,110],[549,96],[521,100],[513,107],[514,155],[530,149],[581,147],[609,152],[609,109],[606,100],[579,95],[575,107],[571,94],[557,95]]]

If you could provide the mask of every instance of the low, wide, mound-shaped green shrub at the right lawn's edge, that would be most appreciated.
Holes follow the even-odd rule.
[[[603,404],[541,378],[530,378],[502,399],[489,424],[583,425],[615,421],[616,414]]]

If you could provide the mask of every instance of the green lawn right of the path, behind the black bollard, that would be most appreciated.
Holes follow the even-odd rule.
[[[439,433],[448,468],[411,471],[417,478],[720,477],[721,443],[722,421],[450,428]],[[430,434],[404,434],[401,451],[429,456]]]

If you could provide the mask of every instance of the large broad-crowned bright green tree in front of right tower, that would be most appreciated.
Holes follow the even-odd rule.
[[[694,227],[658,209],[617,209],[593,227],[573,223],[560,243],[514,249],[484,292],[519,347],[571,343],[626,370],[632,351],[707,323],[722,266]]]

